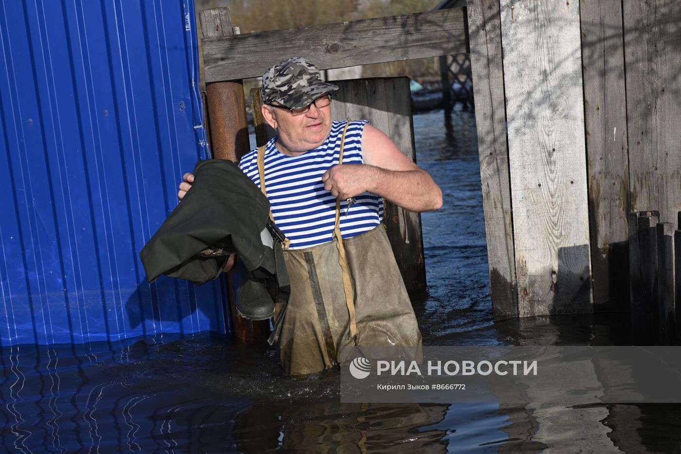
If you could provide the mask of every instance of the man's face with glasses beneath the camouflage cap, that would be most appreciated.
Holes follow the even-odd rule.
[[[266,112],[268,110],[268,112]],[[298,155],[323,144],[331,130],[331,105],[318,108],[313,102],[310,110],[293,115],[287,109],[263,106],[263,115],[279,134],[279,145]],[[274,123],[274,124],[273,124]]]

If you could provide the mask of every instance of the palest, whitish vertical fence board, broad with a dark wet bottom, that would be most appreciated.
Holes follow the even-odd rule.
[[[520,316],[593,311],[579,2],[501,1]]]

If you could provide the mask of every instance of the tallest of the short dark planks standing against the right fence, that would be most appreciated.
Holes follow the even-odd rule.
[[[659,338],[657,303],[657,232],[658,211],[639,215],[639,247],[641,251],[642,332],[641,345],[656,344]]]

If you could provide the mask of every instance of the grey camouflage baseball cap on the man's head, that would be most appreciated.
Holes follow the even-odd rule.
[[[338,87],[321,80],[315,65],[302,57],[292,57],[263,74],[260,95],[263,104],[278,102],[289,109],[298,109],[334,90]]]

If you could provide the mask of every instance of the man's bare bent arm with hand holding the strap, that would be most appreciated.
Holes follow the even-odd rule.
[[[364,164],[341,164],[324,173],[326,190],[345,199],[371,192],[415,212],[437,210],[442,206],[438,185],[383,132],[372,125],[362,134]]]

